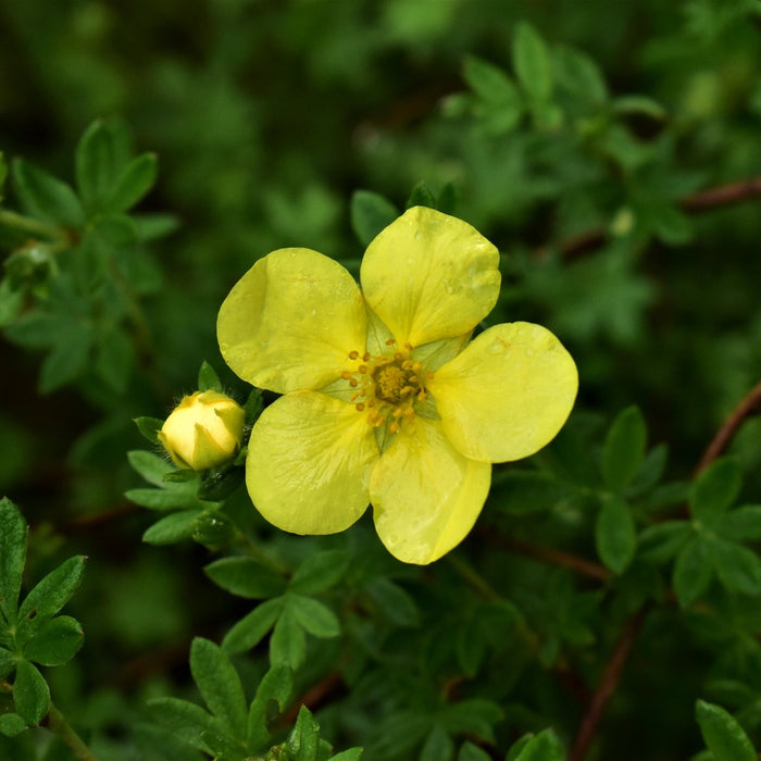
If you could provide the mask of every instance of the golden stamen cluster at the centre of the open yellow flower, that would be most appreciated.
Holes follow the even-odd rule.
[[[396,341],[389,339],[389,347]],[[349,359],[357,362],[354,370],[348,370],[342,377],[357,390],[351,401],[358,412],[367,412],[367,423],[375,428],[388,424],[388,433],[396,434],[403,420],[415,416],[415,403],[428,398],[423,383],[423,369],[420,362],[410,359],[409,350],[395,351],[392,354],[360,355],[359,351],[349,353]],[[425,374],[426,378],[433,373]]]

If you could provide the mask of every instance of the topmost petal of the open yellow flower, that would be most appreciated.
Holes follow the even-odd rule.
[[[360,279],[400,345],[472,330],[497,303],[497,249],[466,222],[413,207],[370,244]]]

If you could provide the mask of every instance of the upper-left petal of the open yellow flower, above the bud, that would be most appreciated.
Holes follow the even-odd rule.
[[[278,394],[335,380],[350,351],[364,351],[359,286],[337,262],[304,248],[260,259],[220,309],[225,362],[244,380]]]

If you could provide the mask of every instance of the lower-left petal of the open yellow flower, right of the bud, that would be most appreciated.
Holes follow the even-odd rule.
[[[353,404],[296,391],[267,407],[253,426],[246,485],[278,528],[333,534],[365,511],[377,458],[373,427]]]

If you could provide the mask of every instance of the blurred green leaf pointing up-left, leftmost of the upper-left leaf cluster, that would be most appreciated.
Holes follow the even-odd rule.
[[[23,159],[13,162],[13,183],[24,211],[32,216],[57,225],[84,226],[85,212],[66,183]]]

